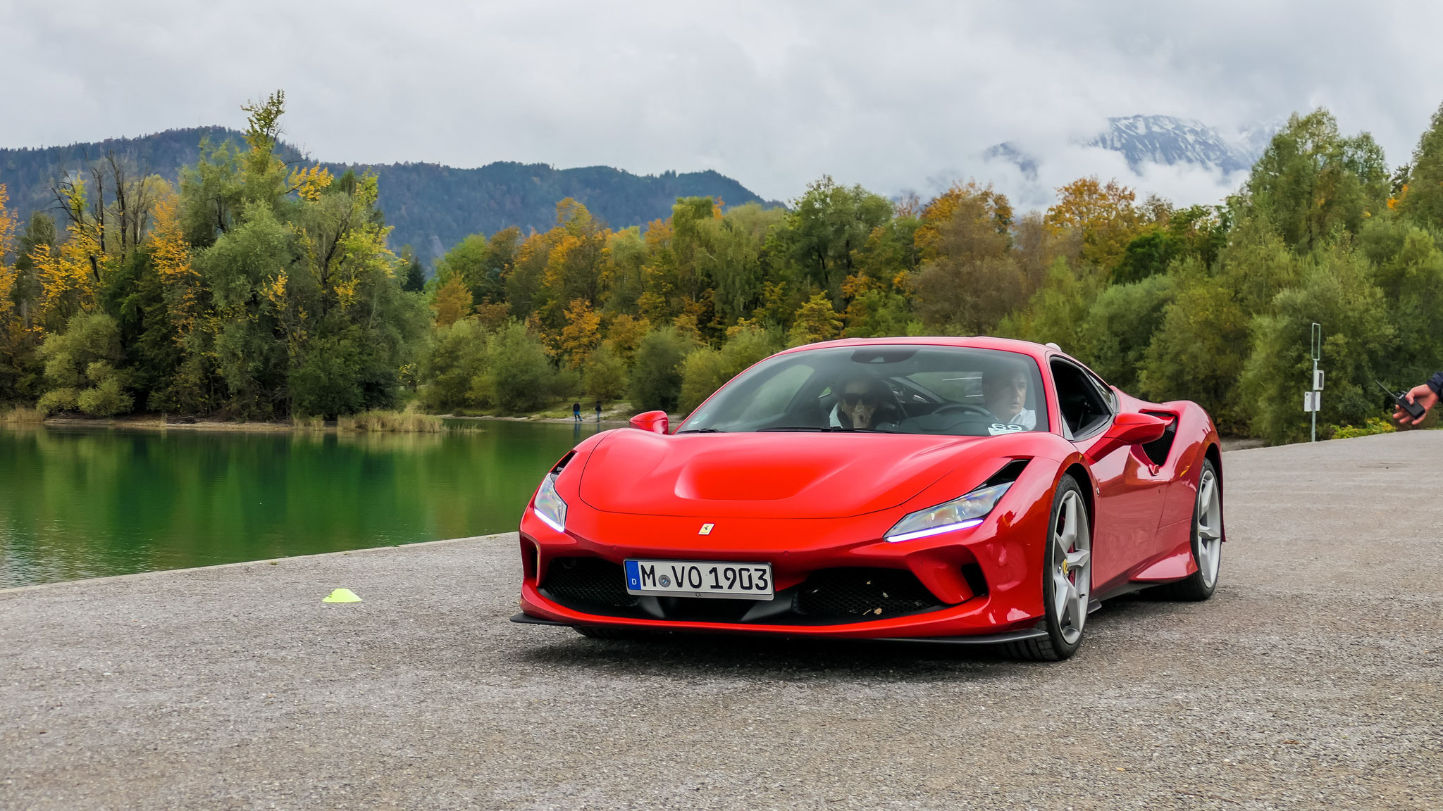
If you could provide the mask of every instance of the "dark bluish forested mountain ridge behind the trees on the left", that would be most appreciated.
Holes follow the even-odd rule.
[[[76,172],[114,152],[137,170],[176,182],[180,167],[201,154],[201,139],[212,144],[244,137],[225,127],[167,130],[137,139],[107,139],[45,149],[0,149],[0,183],[10,192],[10,206],[29,218],[30,212],[55,205],[51,185],[66,172]],[[287,144],[277,150],[287,162],[304,156]],[[333,173],[355,169],[375,172],[381,186],[381,211],[394,227],[391,245],[411,245],[423,261],[431,261],[468,234],[494,234],[515,225],[522,231],[544,231],[556,224],[556,203],[576,198],[612,228],[645,225],[671,215],[671,205],[684,196],[714,196],[726,205],[762,202],[742,183],[717,172],[664,172],[632,175],[610,166],[554,169],[544,163],[489,163],[479,169],[456,169],[436,163],[342,165],[322,163]],[[772,203],[775,205],[775,203]]]

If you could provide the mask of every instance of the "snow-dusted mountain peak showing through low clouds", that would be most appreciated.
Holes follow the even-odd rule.
[[[1202,121],[1173,115],[1124,115],[1108,118],[1107,124],[1107,131],[1088,139],[1082,146],[1121,153],[1133,172],[1141,173],[1143,166],[1160,163],[1219,169],[1225,175],[1251,169],[1280,126],[1270,123],[1250,127],[1229,139]],[[1040,157],[1026,153],[1013,141],[993,146],[983,153],[983,159],[1012,163],[1027,179],[1038,177]]]

